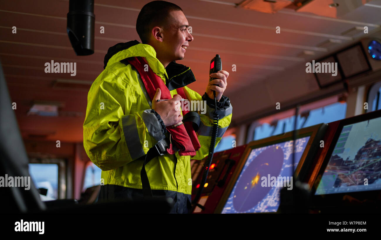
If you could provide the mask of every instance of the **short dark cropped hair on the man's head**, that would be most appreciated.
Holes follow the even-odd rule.
[[[166,1],[152,1],[143,6],[136,20],[136,32],[142,43],[147,44],[153,27],[167,24],[170,11],[182,9]]]

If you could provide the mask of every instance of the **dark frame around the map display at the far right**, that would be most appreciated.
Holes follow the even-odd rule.
[[[351,125],[354,123],[359,123],[367,120],[371,120],[374,118],[381,117],[381,110],[369,112],[366,114],[357,115],[351,118],[346,118],[340,121],[338,128],[336,129],[335,136],[333,137],[329,150],[327,154],[324,157],[324,161],[322,165],[320,166],[319,173],[317,174],[314,184],[311,186],[311,193],[312,193],[312,208],[319,208],[319,207],[325,207],[325,206],[331,206],[333,205],[333,202],[340,202],[343,200],[344,196],[351,196],[358,200],[363,200],[367,198],[376,199],[378,194],[380,193],[380,190],[370,190],[370,191],[358,191],[358,192],[349,192],[349,193],[330,193],[330,194],[321,194],[321,195],[315,195],[316,189],[319,186],[320,180],[322,178],[322,175],[325,171],[325,168],[328,165],[328,162],[331,159],[331,155],[333,153],[333,150],[335,149],[336,142],[339,139],[339,136],[341,134],[341,131],[343,130],[344,126]]]

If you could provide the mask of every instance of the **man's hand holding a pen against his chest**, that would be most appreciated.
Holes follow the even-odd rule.
[[[152,100],[152,109],[154,109],[162,118],[165,126],[171,126],[182,121],[181,115],[181,96],[173,95],[173,98],[168,101],[158,102],[162,92],[160,88],[156,89],[154,99]]]

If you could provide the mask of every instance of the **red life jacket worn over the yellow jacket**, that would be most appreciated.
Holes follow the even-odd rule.
[[[162,92],[162,99],[172,98],[168,87],[164,84],[163,80],[152,71],[143,57],[130,57],[126,58],[126,61],[138,70],[151,101],[154,99],[157,88],[160,88]],[[144,65],[146,64],[148,66],[148,71],[144,71]],[[186,95],[182,87],[177,88],[176,91],[181,98],[186,99]],[[184,109],[182,109],[183,116],[185,116],[188,112],[189,111],[184,111]],[[180,156],[196,155],[196,151],[200,149],[200,142],[193,129],[192,122],[185,122],[184,124],[174,128],[168,126],[166,129],[171,133],[174,144],[179,149]]]

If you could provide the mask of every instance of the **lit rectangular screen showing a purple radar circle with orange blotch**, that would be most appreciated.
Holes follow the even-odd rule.
[[[310,136],[296,139],[295,166],[293,141],[253,148],[232,189],[222,213],[276,212],[280,190],[292,188],[292,175],[306,149]]]

